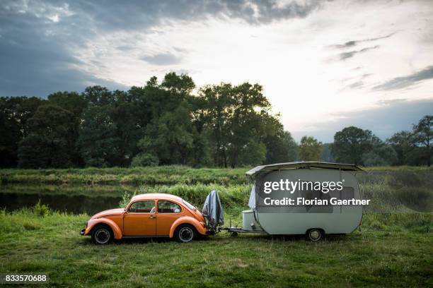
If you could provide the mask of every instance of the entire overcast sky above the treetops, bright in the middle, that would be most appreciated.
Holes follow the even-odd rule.
[[[127,2],[127,3],[125,3]],[[0,95],[260,83],[296,139],[433,114],[432,1],[1,1]]]

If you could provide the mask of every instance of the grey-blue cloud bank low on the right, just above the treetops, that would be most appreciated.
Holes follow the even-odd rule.
[[[333,142],[334,134],[347,126],[357,126],[373,131],[385,140],[402,130],[411,130],[423,116],[432,114],[433,99],[430,100],[386,100],[379,107],[357,112],[338,113],[338,121],[318,124],[311,131],[296,131],[292,135],[299,140],[304,135],[314,136],[323,143]]]

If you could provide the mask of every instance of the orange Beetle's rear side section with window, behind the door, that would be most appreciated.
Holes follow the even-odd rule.
[[[169,200],[158,200],[157,207],[156,235],[168,236],[173,222],[183,215],[183,208]]]

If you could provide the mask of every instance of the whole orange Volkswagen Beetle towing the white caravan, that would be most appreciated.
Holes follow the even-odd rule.
[[[81,235],[91,235],[95,244],[113,239],[170,237],[190,242],[198,234],[209,234],[202,213],[178,196],[163,193],[132,197],[126,208],[93,215]]]

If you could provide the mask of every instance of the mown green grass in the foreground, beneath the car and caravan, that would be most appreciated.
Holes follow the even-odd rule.
[[[361,232],[319,243],[221,232],[190,244],[94,246],[78,234],[87,215],[1,212],[0,271],[76,287],[431,287],[430,217],[369,214]]]

